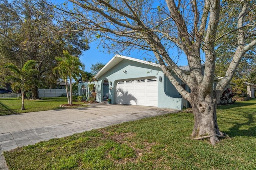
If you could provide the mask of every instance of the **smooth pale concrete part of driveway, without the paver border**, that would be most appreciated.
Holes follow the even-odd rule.
[[[159,109],[157,107],[133,105],[94,105],[73,109],[58,109],[50,111],[37,111],[15,115],[0,116],[0,134],[34,129],[50,125],[64,125],[74,122],[104,119],[114,115],[129,115],[141,113],[170,113],[172,109]],[[146,115],[145,115],[146,116]],[[127,121],[123,119],[123,121]]]

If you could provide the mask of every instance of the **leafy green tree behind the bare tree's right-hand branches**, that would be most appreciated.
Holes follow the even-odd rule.
[[[236,51],[237,46],[237,21],[236,18],[239,17],[240,11],[242,10],[241,2],[228,0],[224,2],[220,10],[220,21],[218,24],[218,38],[216,41],[216,69],[215,75],[224,77],[228,66],[233,59],[233,55]],[[245,43],[249,43],[255,39],[254,32],[249,31],[252,26],[250,22],[254,20],[255,17],[248,8],[247,17],[244,18],[244,23],[248,24],[243,27],[246,36]],[[223,38],[222,38],[223,37]],[[234,73],[234,79],[246,78],[248,73],[252,71],[256,66],[256,47],[252,47],[250,50],[246,51],[239,61],[239,65]],[[245,80],[246,81],[246,80]]]

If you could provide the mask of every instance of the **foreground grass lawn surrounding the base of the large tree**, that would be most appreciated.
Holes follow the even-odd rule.
[[[256,169],[256,100],[218,106],[232,139],[192,140],[194,117],[172,113],[4,152],[10,170]]]

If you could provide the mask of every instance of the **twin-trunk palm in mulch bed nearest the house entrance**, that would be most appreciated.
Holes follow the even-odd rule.
[[[72,103],[72,78],[78,77],[79,74],[84,69],[84,64],[80,61],[80,59],[76,56],[70,55],[67,50],[63,51],[64,57],[56,57],[56,61],[58,62],[58,66],[55,68],[59,71],[60,76],[64,79],[67,88],[67,80],[70,80],[70,100],[68,100],[68,104]],[[67,90],[68,97],[68,90]]]

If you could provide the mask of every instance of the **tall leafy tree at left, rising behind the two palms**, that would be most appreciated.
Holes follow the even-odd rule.
[[[17,66],[28,60],[36,61],[38,74],[33,78],[40,84],[32,87],[34,99],[39,98],[39,87],[56,84],[58,77],[52,75],[52,68],[63,49],[81,55],[89,48],[82,32],[56,31],[52,12],[40,0],[0,0],[0,53]]]

